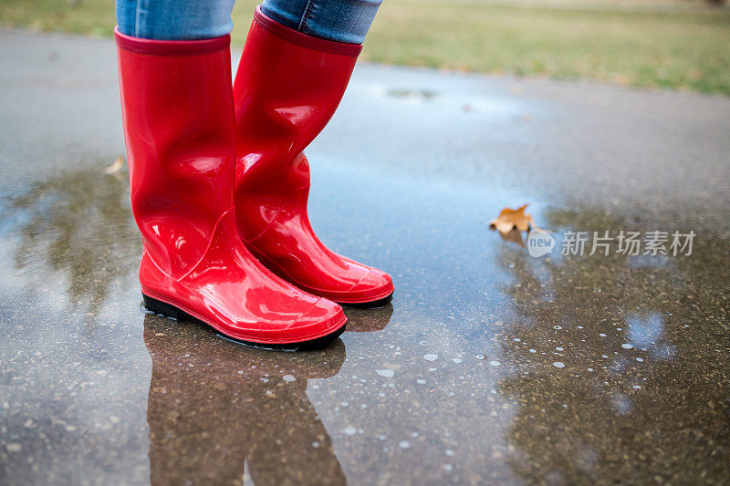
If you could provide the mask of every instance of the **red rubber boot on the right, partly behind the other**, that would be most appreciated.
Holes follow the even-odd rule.
[[[292,284],[343,305],[381,305],[390,275],[332,253],[309,224],[304,150],[347,88],[360,46],[306,36],[256,8],[235,76],[238,230]]]

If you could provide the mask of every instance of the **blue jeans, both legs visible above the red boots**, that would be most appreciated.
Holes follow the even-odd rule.
[[[128,36],[193,40],[231,32],[235,0],[117,0],[117,24]],[[382,0],[264,0],[266,16],[309,36],[362,44]]]

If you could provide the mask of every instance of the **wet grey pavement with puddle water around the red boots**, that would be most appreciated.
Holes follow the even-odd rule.
[[[360,64],[311,216],[397,292],[275,353],[141,308],[111,41],[0,42],[3,484],[730,483],[730,98]]]

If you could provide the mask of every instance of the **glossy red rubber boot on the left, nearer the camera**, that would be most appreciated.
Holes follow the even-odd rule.
[[[236,232],[229,37],[116,36],[145,305],[256,345],[338,336],[346,320],[339,305],[271,274]]]

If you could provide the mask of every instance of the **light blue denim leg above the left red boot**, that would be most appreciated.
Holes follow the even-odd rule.
[[[195,40],[231,33],[235,0],[117,0],[117,26],[126,36]]]

